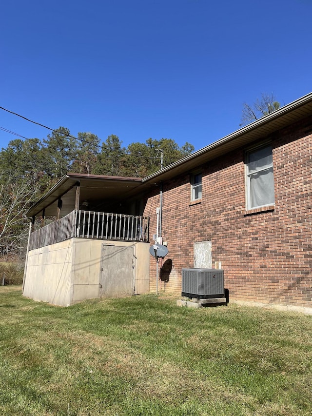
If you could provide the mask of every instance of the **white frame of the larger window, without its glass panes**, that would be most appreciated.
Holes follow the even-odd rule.
[[[250,155],[260,151],[265,148],[270,148],[272,153],[272,162],[270,164],[267,164],[265,167],[259,167],[254,169],[253,172],[250,172],[249,163],[250,163]],[[265,142],[258,146],[251,147],[246,151],[245,154],[245,178],[246,178],[246,209],[247,210],[253,210],[257,208],[267,207],[267,206],[273,206],[275,204],[275,198],[274,198],[274,177],[272,178],[272,183],[270,184],[273,187],[273,198],[268,201],[268,203],[263,204],[253,204],[252,202],[252,189],[251,189],[251,179],[254,175],[272,171],[273,175],[273,149],[271,142]],[[269,198],[269,197],[268,197]]]

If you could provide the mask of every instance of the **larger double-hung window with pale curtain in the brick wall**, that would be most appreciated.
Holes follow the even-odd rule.
[[[254,148],[246,154],[247,209],[274,205],[272,146]]]

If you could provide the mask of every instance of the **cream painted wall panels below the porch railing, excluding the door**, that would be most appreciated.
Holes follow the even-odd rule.
[[[24,280],[25,297],[69,306],[99,296],[103,240],[71,238],[28,253]],[[134,246],[136,293],[149,292],[149,244],[106,241],[116,246]]]

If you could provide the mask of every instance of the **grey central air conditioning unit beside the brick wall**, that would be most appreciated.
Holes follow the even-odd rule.
[[[182,296],[198,299],[224,297],[223,270],[182,269]]]

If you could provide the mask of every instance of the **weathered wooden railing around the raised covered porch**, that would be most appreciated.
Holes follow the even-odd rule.
[[[148,241],[149,218],[125,214],[75,210],[30,235],[29,250],[69,238]]]

